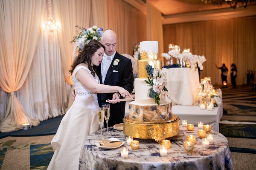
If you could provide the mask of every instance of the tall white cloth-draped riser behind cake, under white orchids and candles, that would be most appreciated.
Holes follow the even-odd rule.
[[[193,106],[198,100],[198,69],[163,68],[163,72],[166,72],[166,88],[173,104]]]

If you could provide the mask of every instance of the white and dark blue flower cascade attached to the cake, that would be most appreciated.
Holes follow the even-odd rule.
[[[168,95],[168,90],[165,87],[167,85],[166,72],[163,72],[162,69],[154,69],[149,64],[145,69],[148,72],[148,81],[145,80],[145,82],[152,86],[149,89],[149,97],[154,98],[155,103],[159,106],[160,99],[165,101],[165,96]]]

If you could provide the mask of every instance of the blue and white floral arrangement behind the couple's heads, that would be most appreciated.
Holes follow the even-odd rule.
[[[75,43],[74,49],[73,49],[73,57],[76,57],[76,53],[80,52],[84,44],[88,40],[98,40],[100,41],[102,39],[103,29],[101,27],[92,26],[88,29],[85,29],[84,27],[76,26],[80,29],[78,34],[73,37],[73,40],[70,41],[70,43]]]

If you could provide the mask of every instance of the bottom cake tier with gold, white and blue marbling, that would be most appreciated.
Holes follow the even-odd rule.
[[[129,118],[137,121],[166,121],[172,117],[172,101],[157,104],[138,104],[133,101],[129,104]]]

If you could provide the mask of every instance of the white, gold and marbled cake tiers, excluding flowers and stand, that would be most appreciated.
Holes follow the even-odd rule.
[[[154,98],[149,97],[151,86],[148,80],[147,65],[154,69],[161,69],[162,62],[158,60],[158,42],[140,42],[140,60],[138,61],[138,78],[134,81],[135,101],[129,104],[129,118],[138,121],[166,121],[172,117],[172,101],[164,97],[160,99],[160,105]]]

